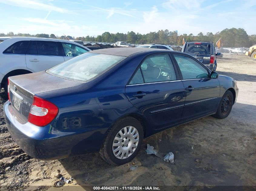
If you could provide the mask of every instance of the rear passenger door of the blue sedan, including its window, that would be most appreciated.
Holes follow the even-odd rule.
[[[181,121],[185,91],[175,70],[169,54],[148,56],[125,88],[130,102],[155,129]]]

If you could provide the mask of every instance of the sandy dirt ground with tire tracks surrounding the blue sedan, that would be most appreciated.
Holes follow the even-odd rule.
[[[256,186],[255,67],[256,62],[248,56],[224,54],[219,58],[217,72],[233,77],[239,88],[230,115],[226,119],[204,117],[145,139],[133,161],[138,166],[135,171],[128,171],[131,162],[114,167],[98,153],[55,161],[31,158],[8,133],[2,111],[7,97],[1,93],[0,189],[85,190],[81,186],[86,185]],[[147,155],[147,144],[163,155],[173,152],[175,164]],[[55,171],[75,181],[55,188],[58,180],[52,177]]]

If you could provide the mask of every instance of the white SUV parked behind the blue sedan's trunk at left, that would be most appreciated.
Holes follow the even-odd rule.
[[[7,90],[10,76],[40,72],[90,51],[78,43],[36,37],[0,40],[0,89]]]

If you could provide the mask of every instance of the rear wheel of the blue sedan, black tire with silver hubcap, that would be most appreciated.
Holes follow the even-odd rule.
[[[125,129],[127,136],[124,135]],[[132,136],[136,134],[138,134],[136,137]],[[143,141],[143,134],[143,128],[138,120],[132,117],[122,118],[108,132],[99,154],[107,163],[115,166],[128,163],[138,154]],[[120,141],[117,139],[120,139]],[[133,143],[137,145],[136,148],[133,147]]]

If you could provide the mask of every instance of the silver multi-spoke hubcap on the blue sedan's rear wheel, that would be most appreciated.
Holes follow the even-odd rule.
[[[125,159],[134,153],[138,143],[138,130],[133,126],[126,126],[115,135],[112,151],[116,158]]]

